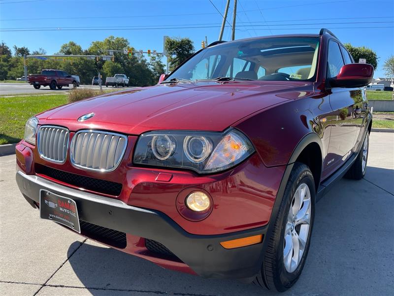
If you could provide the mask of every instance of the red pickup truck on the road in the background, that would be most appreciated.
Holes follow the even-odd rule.
[[[69,84],[72,84],[75,88],[78,85],[75,77],[61,70],[42,70],[41,74],[29,75],[28,81],[30,84],[33,84],[35,89],[39,89],[41,85],[49,85],[50,89],[56,89],[56,87],[61,89]]]

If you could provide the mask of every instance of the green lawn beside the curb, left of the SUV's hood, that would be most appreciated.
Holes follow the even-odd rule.
[[[0,145],[23,138],[25,123],[33,115],[67,103],[68,95],[0,97]]]

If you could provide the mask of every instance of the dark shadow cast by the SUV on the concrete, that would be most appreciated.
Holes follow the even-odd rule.
[[[368,170],[367,177],[374,178],[394,173],[383,168]],[[319,201],[303,273],[292,289],[281,295],[390,295],[394,290],[394,198],[377,186],[383,185],[342,179]],[[102,289],[108,289],[106,295],[118,295],[124,290],[131,295],[276,294],[253,284],[208,280],[165,270],[147,260],[89,242],[70,257],[75,250],[71,245],[68,257],[72,271],[92,295],[102,295]]]

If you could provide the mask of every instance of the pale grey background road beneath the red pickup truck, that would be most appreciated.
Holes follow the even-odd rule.
[[[99,90],[98,85],[80,85],[79,87],[86,87],[86,88],[94,88]],[[113,87],[105,87],[103,89],[112,89]],[[125,89],[131,89],[132,87],[125,87]],[[0,83],[0,95],[38,95],[38,94],[66,94],[72,89],[72,87],[63,87],[62,89],[52,90],[49,86],[41,87],[40,89],[35,89],[33,85],[28,83]],[[123,87],[118,87],[119,90],[122,90]]]

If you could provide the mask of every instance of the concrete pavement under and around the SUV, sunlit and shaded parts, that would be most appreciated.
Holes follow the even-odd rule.
[[[311,248],[282,295],[393,295],[394,133],[372,133],[366,176],[340,180],[317,204]],[[0,295],[263,296],[231,280],[157,265],[40,220],[15,183],[15,156],[0,157]]]

